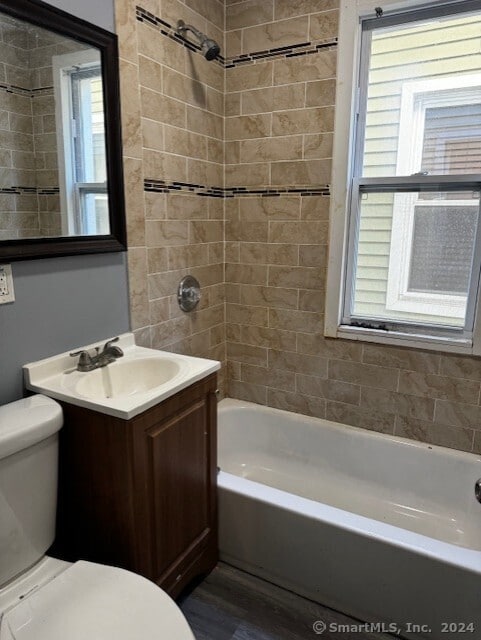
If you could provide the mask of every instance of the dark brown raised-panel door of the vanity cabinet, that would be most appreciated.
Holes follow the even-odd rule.
[[[209,411],[204,396],[144,432],[152,578],[158,584],[180,580],[209,543],[215,495]]]

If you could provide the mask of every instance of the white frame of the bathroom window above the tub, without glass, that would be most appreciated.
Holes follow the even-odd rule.
[[[461,1],[441,0],[432,4],[435,6],[452,6]],[[324,335],[327,337],[481,355],[481,322],[478,322],[478,309],[474,308],[474,306],[470,310],[473,315],[473,332],[469,338],[465,336],[426,335],[424,332],[415,333],[402,330],[386,332],[375,328],[343,324],[342,313],[346,295],[345,275],[349,256],[352,255],[352,251],[348,251],[349,200],[352,195],[350,176],[353,174],[355,124],[356,116],[359,114],[360,20],[365,17],[374,17],[374,6],[372,0],[341,0],[340,2]],[[384,12],[402,12],[426,6],[427,3],[424,0],[384,0],[382,3]],[[399,180],[402,181],[402,178]],[[369,183],[369,181],[369,179],[364,179],[365,183]],[[456,182],[455,179],[453,181]],[[380,180],[375,182],[379,184]],[[386,180],[386,183],[388,182],[392,183],[393,180]],[[423,176],[419,178],[419,182],[429,184],[430,179],[428,176]],[[476,299],[480,297],[481,293],[479,284],[477,286],[477,295],[474,296]]]

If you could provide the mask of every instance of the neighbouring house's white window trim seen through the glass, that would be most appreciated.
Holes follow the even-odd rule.
[[[457,89],[456,95],[448,94]],[[459,91],[464,89],[464,91]],[[464,106],[481,102],[481,74],[466,74],[452,78],[417,80],[403,84],[399,120],[399,140],[415,142],[400,145],[396,175],[410,176],[422,171],[422,141],[426,109],[444,106]],[[463,318],[467,297],[435,292],[410,291],[409,270],[412,255],[415,194],[396,194],[394,197],[391,249],[387,280],[386,309],[409,313],[430,313]],[[422,204],[446,206],[445,201],[423,200]],[[450,206],[476,206],[467,200],[450,200]]]

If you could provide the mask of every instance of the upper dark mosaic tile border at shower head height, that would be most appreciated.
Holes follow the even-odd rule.
[[[183,45],[190,51],[200,52],[200,46],[186,40],[180,36],[175,28],[162,20],[153,13],[146,11],[142,7],[137,6],[135,8],[136,18],[139,22],[145,22],[155,27],[160,33],[171,40]],[[324,49],[333,49],[337,47],[337,38],[330,40],[320,40],[316,42],[301,42],[300,44],[292,44],[286,47],[276,47],[274,49],[264,49],[262,51],[253,51],[252,53],[244,53],[239,56],[232,56],[230,58],[224,58],[219,55],[213,62],[220,64],[224,69],[232,69],[233,67],[240,67],[246,64],[255,64],[266,59],[276,58],[292,58],[294,56],[307,56],[313,53],[319,53]]]

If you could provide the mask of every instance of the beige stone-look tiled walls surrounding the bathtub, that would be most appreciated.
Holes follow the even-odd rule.
[[[167,24],[118,2],[139,339],[222,359],[225,330],[232,397],[481,452],[481,360],[322,335],[337,0],[226,0],[224,70],[169,38],[182,18],[221,42],[218,0],[143,8]],[[175,303],[188,271],[198,316]]]

